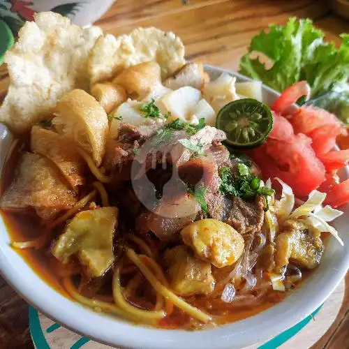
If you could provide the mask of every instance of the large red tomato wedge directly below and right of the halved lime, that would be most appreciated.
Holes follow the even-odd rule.
[[[306,198],[325,181],[325,167],[311,148],[311,139],[298,134],[290,142],[269,139],[254,149],[253,160],[264,179],[279,177],[298,198]]]

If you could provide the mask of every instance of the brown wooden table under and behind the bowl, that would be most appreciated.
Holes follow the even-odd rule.
[[[141,26],[174,31],[184,41],[188,59],[236,69],[253,35],[294,15],[313,19],[337,44],[339,34],[349,33],[349,22],[334,16],[327,1],[319,0],[118,0],[96,24],[112,34]],[[0,98],[7,86],[6,67],[1,66]],[[346,285],[338,317],[313,348],[348,348],[348,275]],[[27,313],[27,303],[0,277],[0,348],[33,348]]]

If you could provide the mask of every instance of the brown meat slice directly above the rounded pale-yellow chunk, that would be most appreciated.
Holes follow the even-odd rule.
[[[264,220],[264,199],[257,196],[253,201],[223,196],[221,193],[205,195],[209,217],[228,223],[240,234],[258,232]]]

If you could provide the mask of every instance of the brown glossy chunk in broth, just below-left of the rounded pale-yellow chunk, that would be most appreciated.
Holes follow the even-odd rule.
[[[165,251],[170,285],[177,295],[208,295],[214,290],[214,277],[209,262],[198,260],[187,246]]]

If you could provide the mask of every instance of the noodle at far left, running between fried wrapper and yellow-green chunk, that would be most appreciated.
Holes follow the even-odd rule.
[[[66,213],[63,216],[60,216],[55,221],[47,225],[45,232],[43,232],[42,235],[37,237],[36,239],[29,240],[26,242],[11,242],[11,246],[15,248],[35,248],[36,250],[39,250],[43,246],[45,246],[51,239],[52,235],[52,229],[56,227],[57,225],[64,223],[68,218],[76,214],[80,209],[85,207],[89,201],[91,201],[94,196],[96,196],[97,191],[94,189],[89,193],[88,195],[84,196],[80,201],[76,202],[75,206],[66,211]]]

